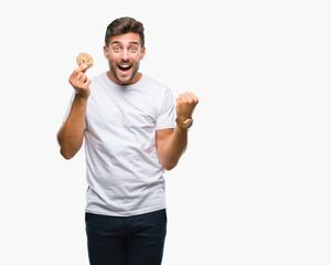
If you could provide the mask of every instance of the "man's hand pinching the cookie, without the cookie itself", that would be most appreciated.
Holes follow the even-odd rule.
[[[83,67],[76,68],[68,82],[76,91],[76,94],[83,98],[87,98],[89,96],[89,84],[90,80],[88,80],[87,75],[85,74],[87,66],[84,65]]]

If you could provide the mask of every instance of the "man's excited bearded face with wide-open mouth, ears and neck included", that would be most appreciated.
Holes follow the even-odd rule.
[[[140,60],[145,56],[138,33],[111,36],[108,47],[104,46],[105,57],[109,63],[109,78],[119,85],[130,85],[139,81]]]

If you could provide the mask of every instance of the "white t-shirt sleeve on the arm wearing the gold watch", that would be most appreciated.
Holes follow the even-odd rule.
[[[156,120],[156,130],[174,128],[174,100],[170,89],[164,93],[162,107]]]

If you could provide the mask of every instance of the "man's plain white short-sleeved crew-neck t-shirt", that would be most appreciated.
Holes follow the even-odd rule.
[[[106,72],[89,87],[86,212],[130,216],[164,209],[156,130],[174,128],[171,91],[145,74],[136,84],[120,86]]]

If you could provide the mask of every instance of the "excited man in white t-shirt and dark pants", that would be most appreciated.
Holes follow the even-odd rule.
[[[146,53],[143,25],[132,18],[113,21],[104,54],[109,71],[94,77],[76,68],[75,92],[57,134],[61,153],[71,159],[85,138],[86,234],[93,265],[161,264],[167,213],[163,172],[185,150],[199,99],[177,98],[138,72]]]

